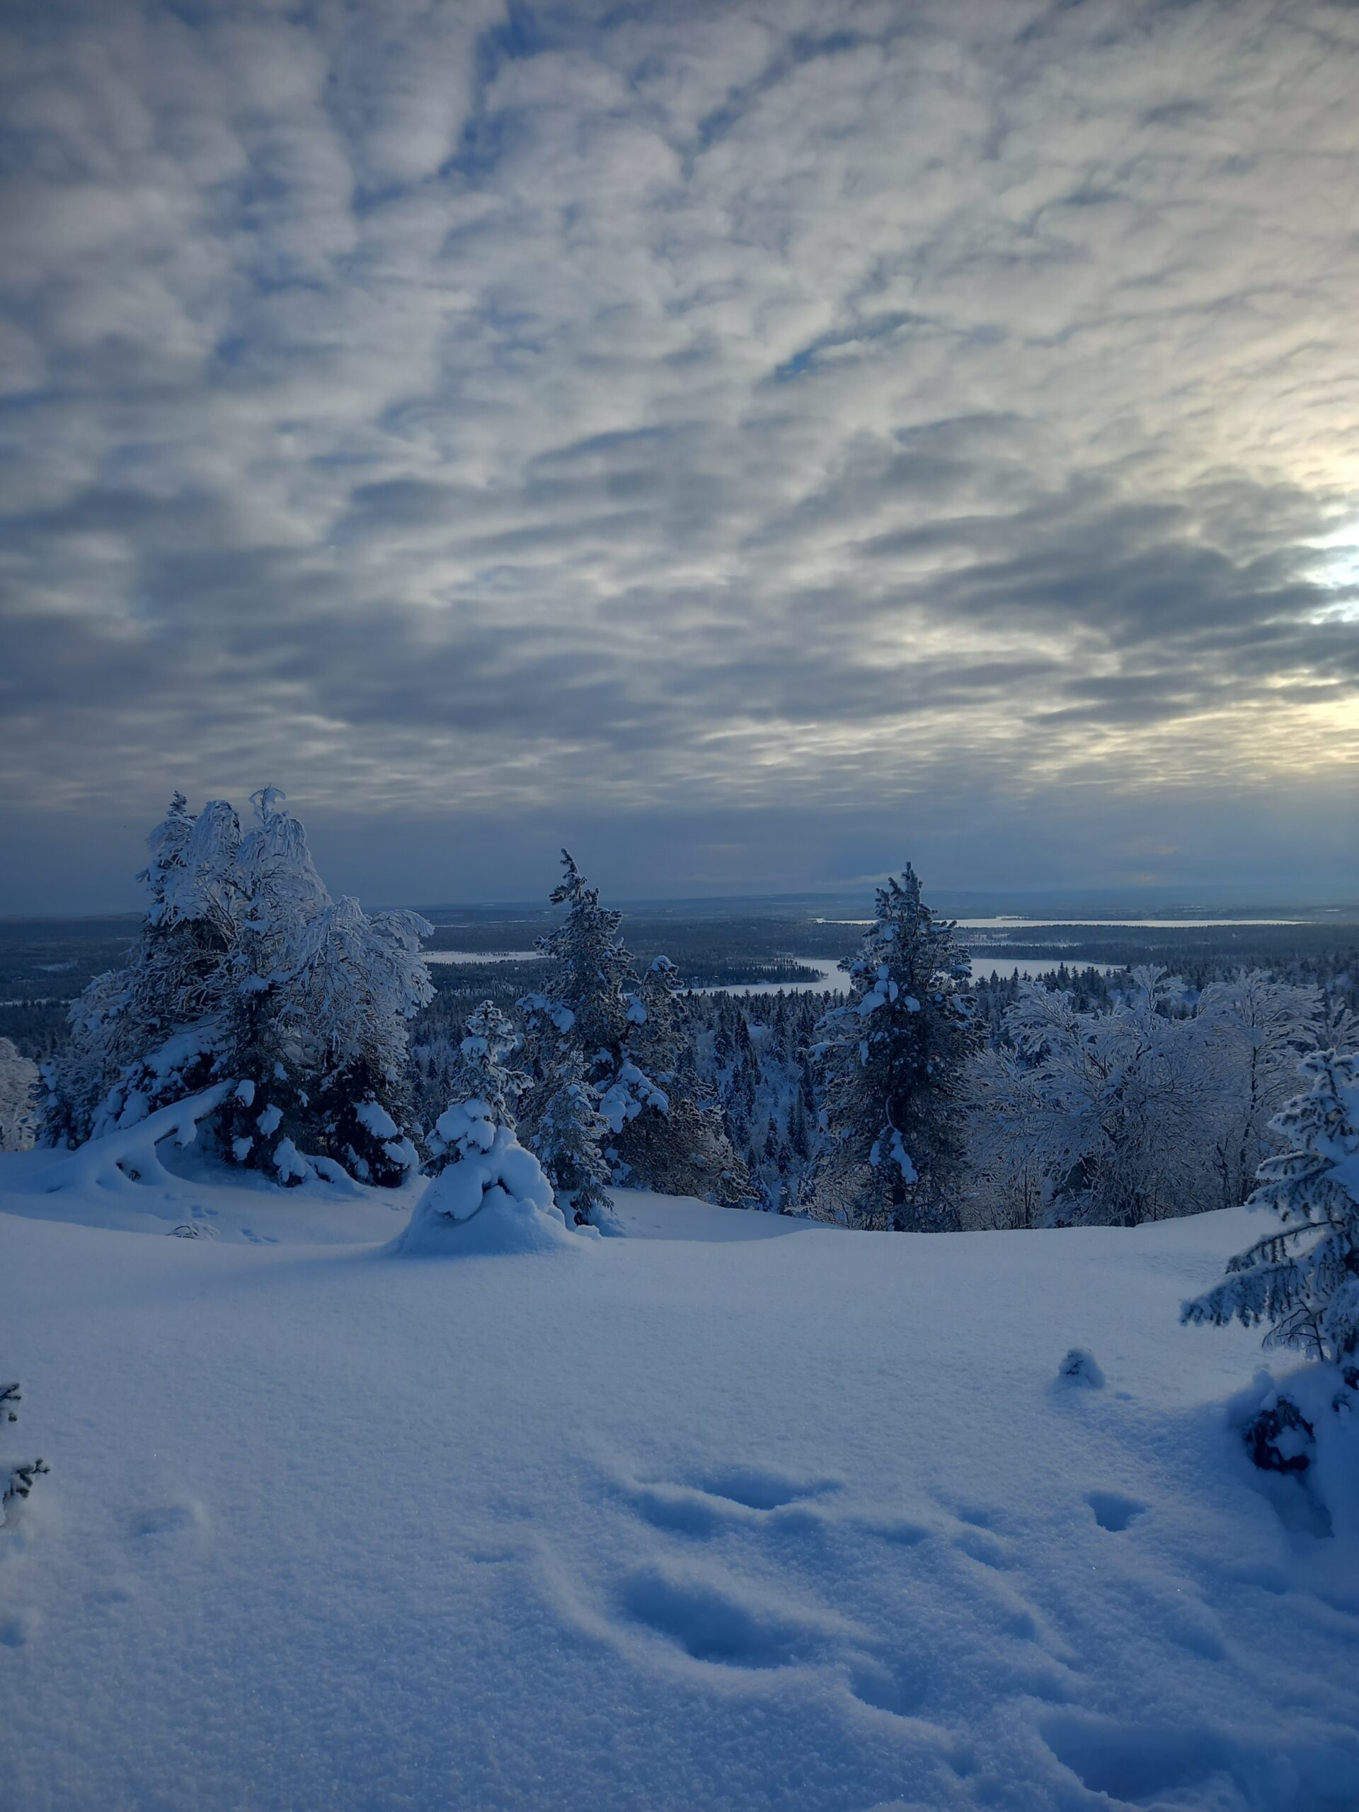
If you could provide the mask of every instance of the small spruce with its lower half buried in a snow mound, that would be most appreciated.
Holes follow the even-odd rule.
[[[509,1067],[518,1042],[489,1000],[469,1017],[458,1087],[429,1136],[433,1178],[393,1247],[402,1256],[544,1250],[569,1238],[553,1185],[516,1138],[527,1080]]]

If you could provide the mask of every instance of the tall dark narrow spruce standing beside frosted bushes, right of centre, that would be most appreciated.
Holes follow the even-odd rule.
[[[957,926],[920,901],[910,864],[877,890],[873,926],[844,968],[850,998],[817,1029],[826,1142],[814,1214],[897,1232],[951,1227],[964,1069],[980,1033]]]

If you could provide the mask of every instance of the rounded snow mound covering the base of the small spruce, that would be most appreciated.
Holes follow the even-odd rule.
[[[487,1149],[469,1145],[439,1172],[388,1250],[400,1258],[486,1258],[576,1245],[538,1160],[509,1127],[495,1127]]]

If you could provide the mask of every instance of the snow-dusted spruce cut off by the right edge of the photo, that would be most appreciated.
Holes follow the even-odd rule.
[[[1312,1051],[1299,1073],[1310,1087],[1272,1122],[1288,1151],[1261,1163],[1247,1203],[1283,1225],[1230,1259],[1181,1321],[1268,1323],[1267,1346],[1346,1364],[1359,1354],[1359,1055]]]

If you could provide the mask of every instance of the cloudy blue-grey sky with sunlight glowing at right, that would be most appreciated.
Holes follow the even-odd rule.
[[[1359,897],[1359,9],[7,0],[0,911]]]

